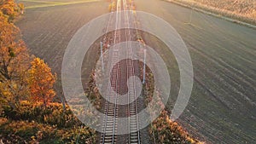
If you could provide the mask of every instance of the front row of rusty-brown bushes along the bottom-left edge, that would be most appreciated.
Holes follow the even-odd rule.
[[[0,131],[0,139],[6,143],[95,143],[96,141],[95,131],[84,126],[59,129],[55,125],[0,118]]]

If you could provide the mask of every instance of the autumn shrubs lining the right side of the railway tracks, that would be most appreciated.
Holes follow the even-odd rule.
[[[141,66],[143,67],[143,66]],[[141,68],[142,69],[142,68]],[[143,73],[143,70],[141,70]],[[147,84],[143,86],[143,95],[145,96],[145,103],[147,107],[161,107],[164,109],[161,113],[149,112],[151,117],[156,118],[149,126],[149,134],[153,143],[186,143],[186,144],[201,144],[203,142],[197,140],[183,129],[183,127],[175,121],[170,119],[170,112],[164,106],[159,93],[154,93],[154,76],[146,69]],[[143,77],[143,76],[141,76]],[[148,104],[152,104],[151,106]]]

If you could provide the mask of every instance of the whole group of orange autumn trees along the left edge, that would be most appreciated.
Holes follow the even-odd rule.
[[[23,11],[23,4],[0,0],[0,114],[4,108],[19,110],[24,100],[46,107],[55,96],[56,75],[44,60],[29,54],[14,24]]]

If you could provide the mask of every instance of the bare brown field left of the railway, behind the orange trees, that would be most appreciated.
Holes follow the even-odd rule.
[[[55,89],[58,95],[62,94],[61,62],[67,44],[81,26],[99,15],[108,13],[108,4],[107,1],[99,1],[26,9],[26,14],[17,22],[16,25],[20,27],[31,53],[44,59],[53,72],[57,73]],[[96,55],[95,51],[90,51],[86,58],[95,59]],[[87,64],[89,68],[83,73],[86,78],[89,78],[90,66],[95,65]]]

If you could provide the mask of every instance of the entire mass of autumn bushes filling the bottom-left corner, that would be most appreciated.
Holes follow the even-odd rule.
[[[30,141],[29,143],[95,143],[94,130],[85,127],[74,117],[69,107],[61,103],[20,102],[20,111],[5,109],[0,118],[0,139]],[[6,117],[6,118],[3,118]],[[13,137],[13,139],[11,138]]]

